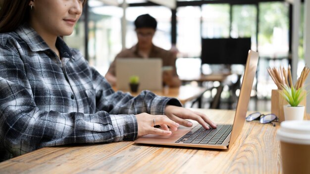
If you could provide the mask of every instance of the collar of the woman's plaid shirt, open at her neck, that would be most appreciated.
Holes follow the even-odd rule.
[[[41,36],[27,23],[19,26],[16,29],[16,33],[28,44],[33,52],[51,49]],[[59,50],[60,57],[72,58],[70,48],[60,37],[57,37],[56,47]]]

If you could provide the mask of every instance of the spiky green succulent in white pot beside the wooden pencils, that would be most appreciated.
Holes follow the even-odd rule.
[[[284,105],[284,118],[285,120],[303,120],[305,114],[305,106],[300,103],[306,97],[305,89],[303,87],[296,88],[294,86],[283,86],[280,94],[289,103]]]

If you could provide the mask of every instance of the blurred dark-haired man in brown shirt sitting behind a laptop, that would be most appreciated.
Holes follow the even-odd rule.
[[[116,55],[105,75],[106,80],[112,86],[116,85],[115,60],[117,58],[161,58],[163,65],[163,84],[169,87],[179,87],[181,82],[176,73],[175,52],[159,48],[152,42],[157,27],[157,21],[155,18],[149,14],[140,15],[135,20],[135,27],[138,43],[129,49],[122,50]]]

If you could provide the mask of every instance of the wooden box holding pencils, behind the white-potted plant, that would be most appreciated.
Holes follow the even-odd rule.
[[[303,90],[302,95],[306,95],[307,91]],[[272,89],[271,91],[271,113],[275,114],[279,118],[279,122],[283,122],[284,119],[284,109],[283,106],[287,105],[288,102],[284,99],[284,97],[280,94],[279,89]],[[300,105],[306,106],[307,100],[306,97],[300,102]],[[304,113],[304,120],[307,120],[306,117],[306,109]]]

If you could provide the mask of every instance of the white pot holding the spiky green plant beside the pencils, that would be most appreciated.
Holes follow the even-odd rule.
[[[283,110],[285,120],[304,120],[305,106],[298,105],[293,107],[291,105],[284,105]]]

